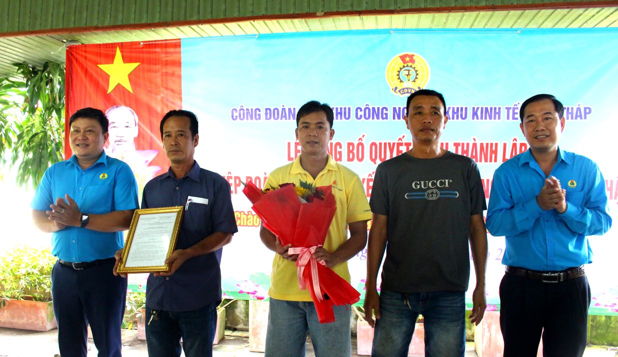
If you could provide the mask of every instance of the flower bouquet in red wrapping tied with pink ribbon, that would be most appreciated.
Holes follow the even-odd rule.
[[[324,245],[337,208],[330,186],[300,182],[299,186],[284,183],[260,190],[247,182],[242,191],[264,227],[279,237],[282,245],[292,245],[290,254],[298,254],[298,285],[302,290],[308,288],[321,323],[335,321],[333,305],[360,300],[352,285],[311,256]]]

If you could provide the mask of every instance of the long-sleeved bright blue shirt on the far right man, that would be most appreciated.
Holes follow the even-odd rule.
[[[491,235],[505,236],[502,264],[536,271],[561,271],[592,263],[588,235],[611,227],[605,180],[595,162],[558,149],[549,175],[567,191],[567,210],[544,211],[536,202],[546,179],[530,149],[496,172],[487,211]]]

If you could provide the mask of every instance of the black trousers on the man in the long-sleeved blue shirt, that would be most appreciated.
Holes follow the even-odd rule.
[[[504,357],[582,356],[586,348],[590,285],[583,275],[544,283],[506,273],[500,284]]]

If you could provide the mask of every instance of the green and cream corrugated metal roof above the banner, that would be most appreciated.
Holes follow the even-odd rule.
[[[15,62],[64,62],[70,40],[90,44],[375,28],[618,27],[618,1],[326,0],[320,6],[311,0],[126,2],[0,0],[0,76],[13,75]],[[408,13],[398,13],[401,9]],[[260,16],[273,19],[253,19]],[[93,18],[96,23],[90,22]],[[24,19],[32,25],[24,25]]]

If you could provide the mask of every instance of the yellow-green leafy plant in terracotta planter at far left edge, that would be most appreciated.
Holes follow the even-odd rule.
[[[0,256],[0,327],[48,331],[56,328],[51,303],[48,248],[18,245]]]

